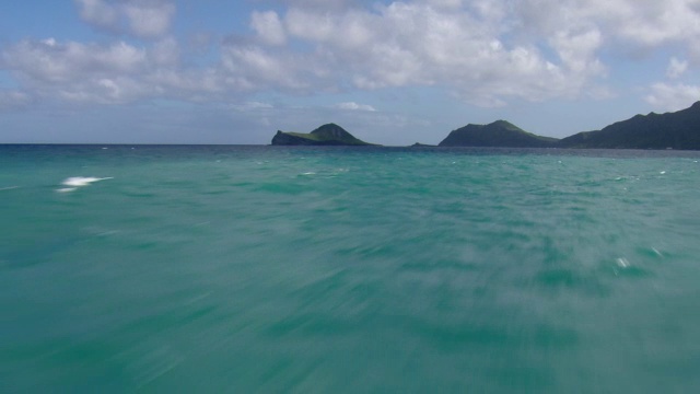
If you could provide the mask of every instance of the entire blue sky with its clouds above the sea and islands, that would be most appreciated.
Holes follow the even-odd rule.
[[[0,143],[560,138],[686,108],[698,71],[700,0],[3,1]]]

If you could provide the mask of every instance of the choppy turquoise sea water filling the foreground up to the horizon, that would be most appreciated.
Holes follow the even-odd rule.
[[[700,387],[700,152],[104,148],[0,147],[3,393]]]

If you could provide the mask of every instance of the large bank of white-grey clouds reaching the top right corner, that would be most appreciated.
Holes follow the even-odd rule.
[[[608,66],[599,58],[604,48],[626,56],[629,47],[649,51],[700,38],[696,0],[413,0],[342,12],[319,9],[315,1],[287,3],[281,15],[266,14],[270,23],[256,14],[254,25],[261,37],[280,37],[271,32],[283,30],[285,39],[314,46],[305,60],[323,65],[317,68],[327,74],[292,71],[310,84],[313,77],[364,90],[443,85],[485,106],[510,99],[599,96],[609,91]]]

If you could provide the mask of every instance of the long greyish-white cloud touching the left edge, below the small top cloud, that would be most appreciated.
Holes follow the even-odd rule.
[[[36,95],[73,102],[126,103],[143,97],[189,97],[224,90],[212,69],[179,67],[178,45],[149,47],[22,40],[0,54],[3,68]]]

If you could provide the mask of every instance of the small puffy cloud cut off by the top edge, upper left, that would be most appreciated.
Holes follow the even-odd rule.
[[[154,38],[170,30],[175,5],[168,0],[74,0],[83,21],[110,32]]]

